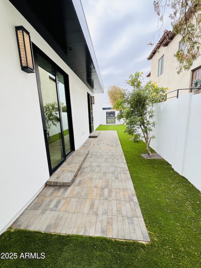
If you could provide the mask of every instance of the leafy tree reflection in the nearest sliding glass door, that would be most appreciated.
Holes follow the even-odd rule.
[[[46,129],[49,132],[52,125],[56,127],[57,123],[60,122],[57,102],[46,103],[46,105],[44,105],[44,113]]]

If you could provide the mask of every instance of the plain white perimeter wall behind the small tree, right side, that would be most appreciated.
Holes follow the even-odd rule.
[[[189,93],[156,105],[150,146],[201,190],[201,94]]]

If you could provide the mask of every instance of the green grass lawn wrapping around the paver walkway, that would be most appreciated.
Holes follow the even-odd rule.
[[[144,142],[133,143],[123,125],[99,126],[117,130],[151,242],[102,237],[58,235],[12,230],[0,236],[0,267],[201,267],[200,192],[161,159],[146,160]],[[21,253],[45,253],[45,259],[19,258]]]

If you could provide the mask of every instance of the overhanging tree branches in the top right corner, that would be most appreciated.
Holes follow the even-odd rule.
[[[174,54],[179,74],[189,70],[201,54],[201,0],[155,0],[154,10],[162,23],[166,8],[172,10],[169,15],[172,32],[182,38],[182,48]],[[149,45],[153,45],[152,41]]]

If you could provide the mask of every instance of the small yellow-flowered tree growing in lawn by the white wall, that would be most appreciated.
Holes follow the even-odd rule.
[[[118,99],[115,108],[119,110],[117,119],[123,119],[126,125],[125,133],[133,136],[134,141],[144,138],[149,156],[152,153],[149,148],[151,139],[155,136],[151,134],[155,127],[154,104],[166,101],[167,88],[159,87],[156,82],[145,83],[143,72],[137,71],[131,74],[126,83],[132,87],[132,91],[126,91],[122,99]]]

